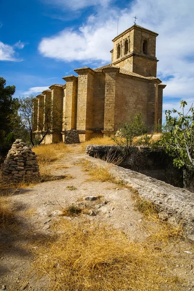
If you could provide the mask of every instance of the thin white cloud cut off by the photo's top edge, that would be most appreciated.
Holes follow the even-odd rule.
[[[98,6],[101,5],[103,7],[106,7],[109,2],[112,0],[44,0],[47,4],[52,4],[54,6],[59,6],[63,10],[71,9],[71,10],[80,10],[86,7],[90,6]]]

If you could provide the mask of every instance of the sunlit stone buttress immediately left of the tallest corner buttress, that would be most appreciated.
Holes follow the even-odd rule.
[[[66,81],[65,90],[65,129],[76,129],[76,110],[77,110],[77,78],[74,75],[63,77]]]

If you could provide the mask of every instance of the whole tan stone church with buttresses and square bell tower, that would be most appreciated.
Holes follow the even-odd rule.
[[[156,37],[158,33],[138,25],[113,39],[111,64],[97,69],[75,69],[77,76],[63,77],[65,84],[54,84],[33,99],[34,131],[44,120],[42,106],[51,100],[61,110],[57,132],[45,143],[64,141],[66,130],[76,129],[80,141],[114,133],[141,112],[149,131],[162,123],[163,89],[156,77]],[[40,106],[42,104],[42,106]],[[52,113],[51,113],[52,114]]]

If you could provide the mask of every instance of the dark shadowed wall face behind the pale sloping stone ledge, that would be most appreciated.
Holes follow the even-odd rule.
[[[124,168],[162,180],[176,187],[183,187],[183,172],[173,166],[173,158],[160,147],[134,146],[124,157],[119,146],[88,145],[86,153],[113,162]]]

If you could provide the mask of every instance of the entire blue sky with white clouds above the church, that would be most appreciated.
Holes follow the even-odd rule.
[[[0,76],[37,95],[75,68],[110,63],[112,39],[134,24],[159,33],[164,110],[194,99],[194,0],[0,0]]]

